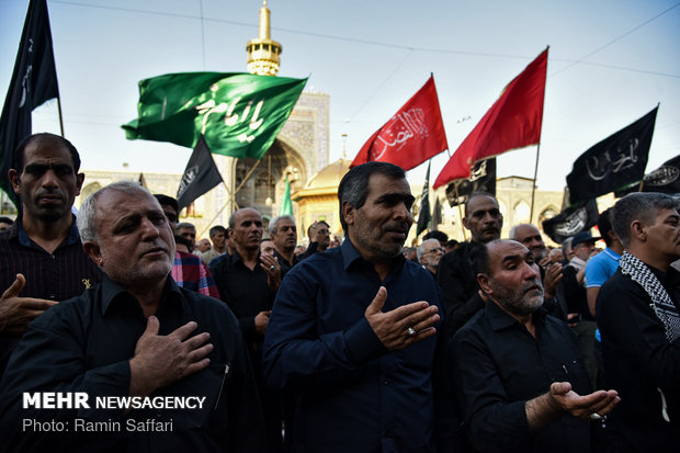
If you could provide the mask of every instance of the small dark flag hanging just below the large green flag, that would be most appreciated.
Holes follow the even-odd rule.
[[[180,211],[220,182],[219,170],[217,170],[205,139],[201,136],[191,154],[189,163],[186,163],[186,170],[182,174],[182,181],[177,191],[177,204]]]

